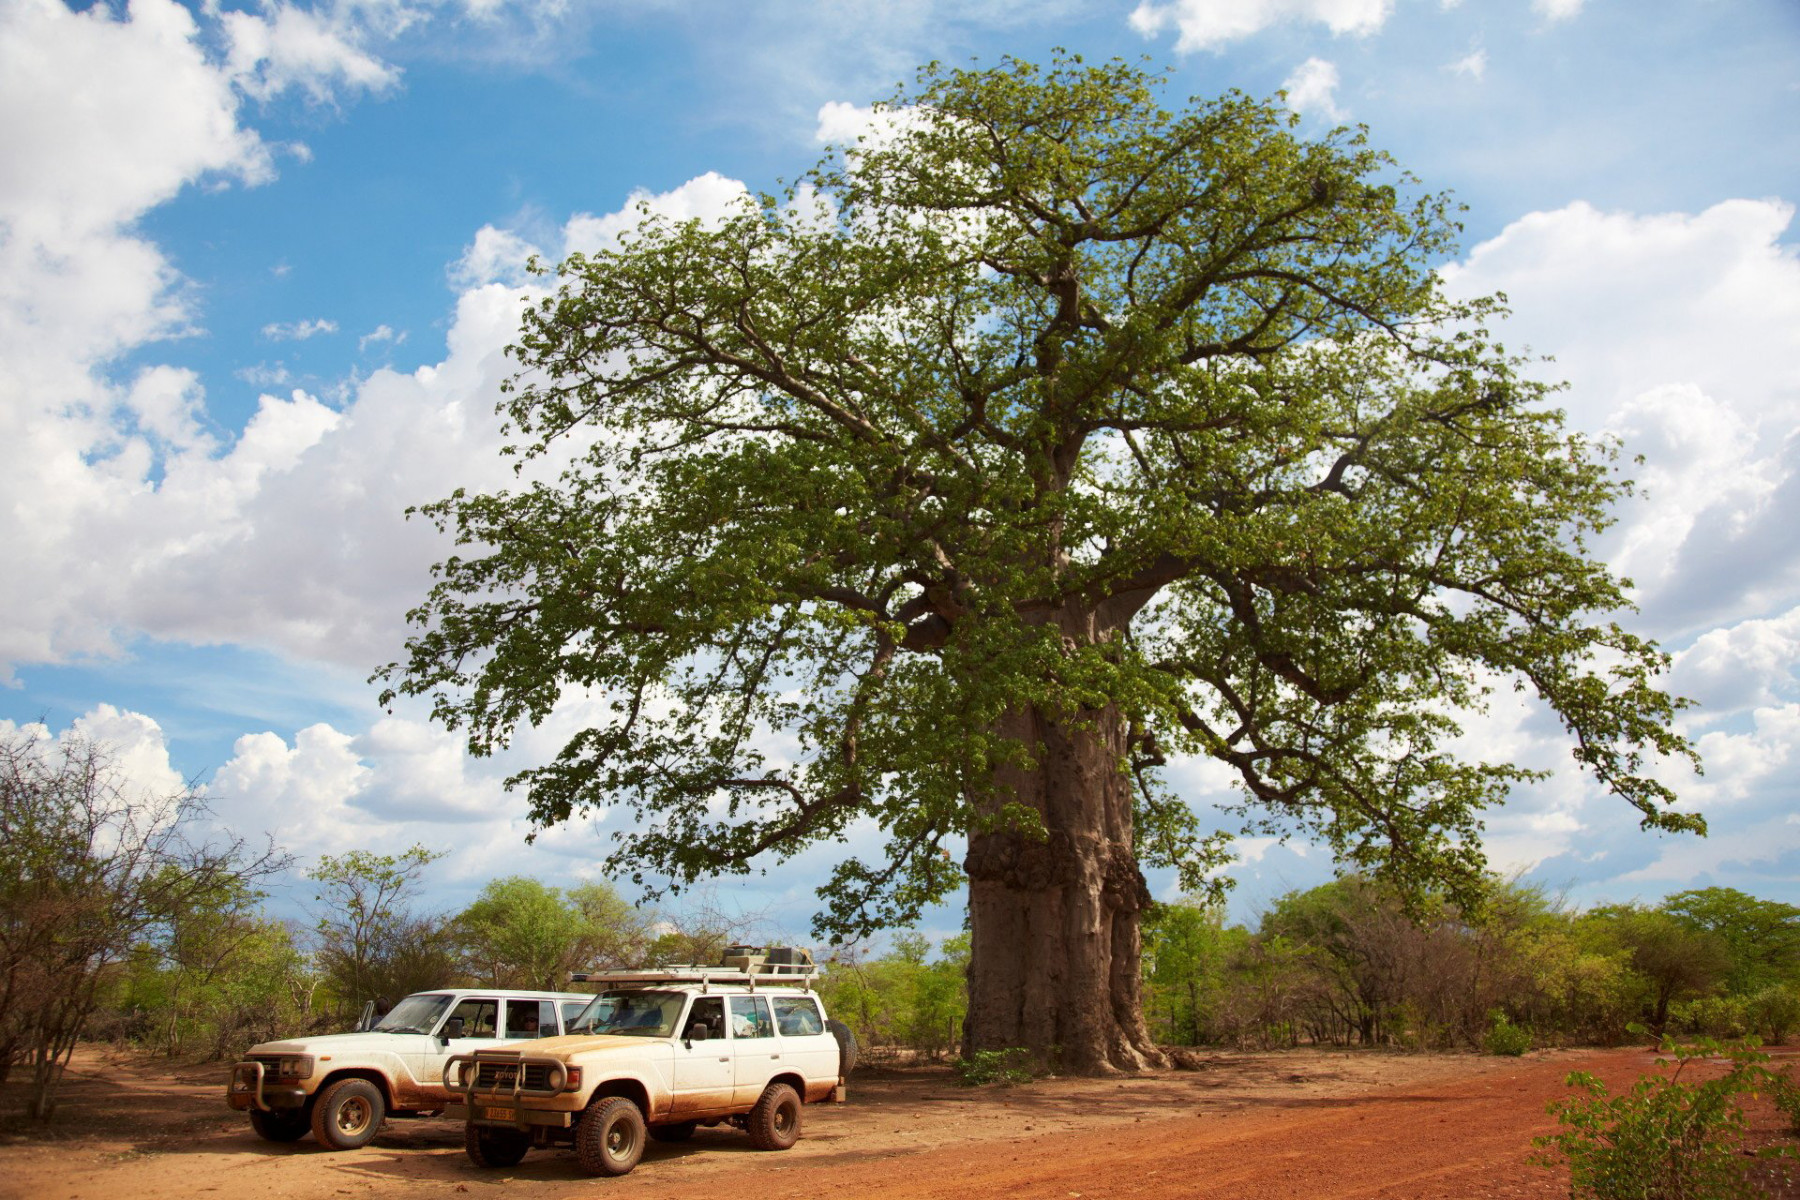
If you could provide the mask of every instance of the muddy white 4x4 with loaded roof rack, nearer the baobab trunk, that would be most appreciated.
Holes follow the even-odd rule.
[[[810,968],[806,972],[810,975]],[[760,1150],[801,1135],[805,1105],[842,1101],[855,1040],[805,984],[756,972],[673,968],[590,977],[608,990],[574,1033],[454,1058],[446,1083],[477,1166],[571,1144],[592,1175],[625,1175],[644,1139],[734,1124]]]

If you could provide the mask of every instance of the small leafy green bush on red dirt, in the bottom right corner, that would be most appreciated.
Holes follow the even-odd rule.
[[[1696,1045],[1661,1045],[1658,1067],[1674,1063],[1672,1074],[1642,1076],[1629,1092],[1609,1096],[1606,1085],[1584,1070],[1571,1072],[1570,1096],[1550,1105],[1561,1133],[1534,1139],[1557,1153],[1543,1166],[1568,1160],[1571,1200],[1750,1200],[1762,1195],[1748,1178],[1750,1159],[1739,1153],[1744,1112],[1739,1097],[1769,1088],[1777,1078],[1760,1063],[1766,1054],[1755,1042],[1721,1047],[1712,1040]],[[1681,1079],[1697,1058],[1728,1054],[1732,1069],[1705,1083]]]

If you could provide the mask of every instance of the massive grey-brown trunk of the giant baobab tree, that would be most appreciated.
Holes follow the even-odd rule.
[[[1150,894],[1132,849],[1125,718],[1028,709],[999,732],[1037,765],[1003,768],[994,802],[1037,810],[1048,837],[970,833],[963,1052],[1022,1045],[1069,1074],[1161,1067],[1143,1022],[1138,921]]]

